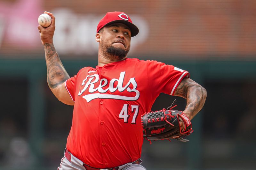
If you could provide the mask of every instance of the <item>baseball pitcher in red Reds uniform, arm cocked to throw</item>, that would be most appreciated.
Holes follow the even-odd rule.
[[[144,170],[140,165],[144,138],[182,140],[182,135],[192,132],[190,120],[202,109],[206,90],[190,79],[186,70],[128,58],[131,37],[139,29],[126,13],[108,12],[100,20],[95,36],[98,65],[84,67],[71,78],[53,45],[55,17],[44,13],[52,18],[49,27],[38,26],[47,82],[58,100],[74,105],[72,127],[58,170]],[[150,112],[162,92],[186,98],[185,110],[172,107]],[[170,133],[172,127],[178,131]],[[163,136],[154,136],[159,133]]]

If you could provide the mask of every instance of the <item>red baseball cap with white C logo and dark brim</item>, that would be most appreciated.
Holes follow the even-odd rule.
[[[124,12],[108,12],[99,22],[97,26],[97,33],[104,26],[108,26],[113,23],[123,23],[131,30],[131,36],[134,37],[139,33],[139,28],[132,24],[132,20]]]

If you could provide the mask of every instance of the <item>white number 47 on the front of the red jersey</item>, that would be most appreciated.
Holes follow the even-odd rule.
[[[134,112],[134,115],[132,117],[132,124],[136,124],[136,118],[138,116],[138,113],[139,113],[139,106],[138,105],[131,105],[131,111]],[[135,110],[134,110],[135,109]],[[124,104],[120,114],[119,114],[119,118],[120,119],[124,119],[124,123],[127,123],[128,122],[128,104]]]

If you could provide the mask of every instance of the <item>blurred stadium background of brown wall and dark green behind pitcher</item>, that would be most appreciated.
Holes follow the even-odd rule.
[[[97,65],[100,18],[124,11],[140,28],[129,57],[188,70],[207,89],[190,142],[144,141],[148,170],[255,169],[255,0],[0,0],[0,170],[57,169],[64,153],[73,107],[47,86],[44,11],[56,17],[54,44],[70,76]],[[161,94],[152,110],[173,99],[184,109],[184,99]]]

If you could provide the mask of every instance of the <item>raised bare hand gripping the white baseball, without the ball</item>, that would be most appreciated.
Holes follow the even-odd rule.
[[[46,43],[51,44],[53,42],[52,39],[53,39],[54,30],[55,30],[55,17],[50,12],[45,11],[44,13],[51,16],[52,23],[50,24],[50,26],[48,26],[46,28],[44,28],[43,26],[40,26],[40,25],[37,26],[43,45]]]

